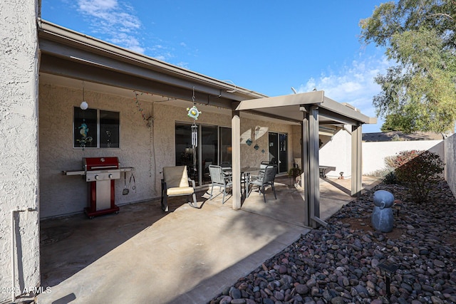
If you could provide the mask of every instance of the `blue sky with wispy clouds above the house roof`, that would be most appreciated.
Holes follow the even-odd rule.
[[[373,78],[390,63],[358,23],[382,2],[42,0],[41,17],[265,95],[324,90],[374,117]]]

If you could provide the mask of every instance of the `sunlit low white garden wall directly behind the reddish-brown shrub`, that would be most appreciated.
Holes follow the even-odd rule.
[[[405,150],[430,150],[445,159],[443,140],[410,140],[400,142],[363,142],[363,174],[385,169],[385,157]]]

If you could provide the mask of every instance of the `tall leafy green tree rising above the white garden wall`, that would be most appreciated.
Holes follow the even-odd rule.
[[[388,124],[405,132],[454,130],[455,20],[456,0],[388,2],[361,20],[361,41],[385,47],[396,63],[375,78],[382,92],[373,105]]]

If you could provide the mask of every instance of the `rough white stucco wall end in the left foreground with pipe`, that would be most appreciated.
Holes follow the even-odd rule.
[[[36,1],[0,1],[0,303],[40,283],[36,17]]]

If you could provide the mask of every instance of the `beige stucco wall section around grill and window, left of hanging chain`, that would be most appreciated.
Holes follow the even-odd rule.
[[[82,86],[82,83],[81,83]],[[81,176],[66,176],[62,171],[82,169],[83,157],[118,157],[121,167],[135,167],[136,191],[122,195],[124,180],[115,181],[115,202],[118,205],[157,196],[154,188],[151,128],[143,120],[131,98],[106,95],[86,90],[89,108],[120,112],[120,148],[73,148],[73,107],[82,101],[82,88],[40,85],[40,196],[41,218],[83,211],[87,206],[88,183]],[[140,102],[145,117],[152,113],[152,104]],[[129,182],[130,172],[127,173]]]

